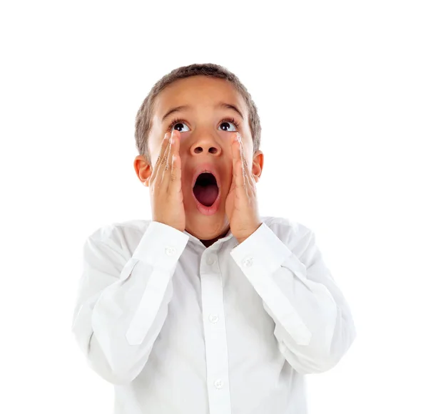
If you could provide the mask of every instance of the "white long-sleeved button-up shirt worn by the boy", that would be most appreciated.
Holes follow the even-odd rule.
[[[262,220],[239,245],[141,219],[86,239],[72,330],[115,414],[307,413],[355,325],[314,232]]]

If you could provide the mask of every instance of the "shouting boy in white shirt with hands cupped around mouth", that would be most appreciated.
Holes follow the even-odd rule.
[[[138,110],[152,220],[88,237],[73,315],[114,413],[305,414],[304,375],[354,341],[314,233],[259,215],[260,130],[248,91],[213,64],[175,69]]]

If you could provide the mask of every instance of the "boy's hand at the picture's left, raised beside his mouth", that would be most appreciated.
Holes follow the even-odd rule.
[[[172,139],[171,139],[172,138]],[[148,185],[153,222],[168,224],[183,232],[185,212],[181,190],[180,132],[166,133]]]

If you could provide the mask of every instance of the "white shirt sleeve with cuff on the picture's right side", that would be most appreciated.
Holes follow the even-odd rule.
[[[299,229],[289,248],[281,229],[278,237],[263,223],[230,255],[263,299],[275,321],[280,352],[290,365],[299,373],[321,373],[340,361],[356,331],[315,234],[304,226]]]

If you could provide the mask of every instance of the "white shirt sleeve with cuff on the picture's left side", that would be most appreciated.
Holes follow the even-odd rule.
[[[83,247],[72,332],[91,368],[125,384],[143,370],[173,296],[188,235],[151,222],[132,256],[99,229]]]

